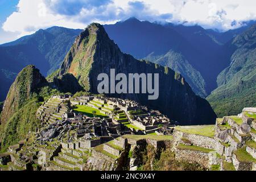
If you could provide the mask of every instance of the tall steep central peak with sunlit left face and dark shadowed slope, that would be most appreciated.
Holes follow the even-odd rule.
[[[184,78],[170,68],[139,61],[122,53],[117,44],[109,39],[104,27],[93,23],[77,37],[61,65],[59,76],[72,73],[87,91],[97,92],[100,73],[110,77],[115,74],[159,73],[159,97],[148,100],[147,94],[108,94],[110,97],[128,98],[142,105],[159,110],[181,124],[214,123],[216,115],[207,101],[193,93]],[[110,84],[109,84],[110,85]]]

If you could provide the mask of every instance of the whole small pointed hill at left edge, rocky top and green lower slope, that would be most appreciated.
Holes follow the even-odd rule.
[[[33,65],[28,65],[19,73],[6,98],[5,109],[1,113],[2,151],[39,127],[36,111],[40,103],[53,94],[60,92],[52,89]]]

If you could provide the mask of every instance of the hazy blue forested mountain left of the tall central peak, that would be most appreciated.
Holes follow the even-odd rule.
[[[60,67],[66,53],[82,30],[51,27],[24,36],[0,47],[0,101],[5,100],[17,74],[28,64],[34,64],[44,76]]]

